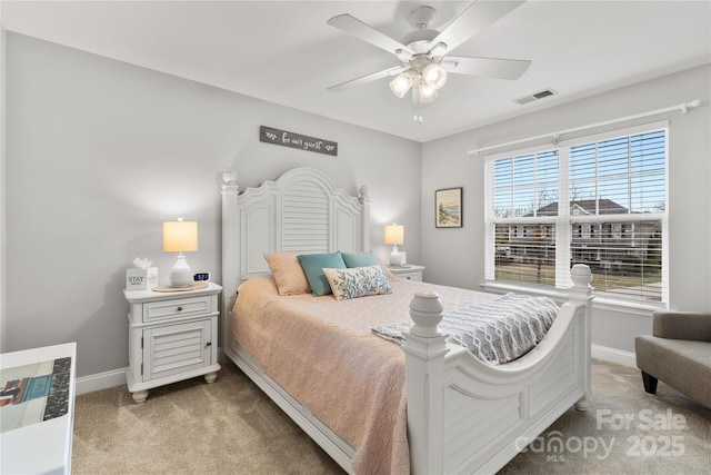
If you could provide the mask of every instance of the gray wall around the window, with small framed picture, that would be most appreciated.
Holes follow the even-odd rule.
[[[484,278],[484,159],[468,156],[468,150],[701,99],[701,107],[687,115],[645,121],[670,120],[670,307],[711,310],[710,71],[709,66],[694,68],[425,144],[422,264],[427,278],[467,288],[479,288]],[[463,228],[435,229],[434,190],[455,186],[464,188]],[[649,311],[594,311],[594,344],[633,352],[634,336],[650,331]]]

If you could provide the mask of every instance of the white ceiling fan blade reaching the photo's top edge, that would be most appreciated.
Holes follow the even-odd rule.
[[[431,50],[438,43],[444,43],[444,51],[451,51],[524,2],[525,0],[474,1],[430,41],[428,49]]]

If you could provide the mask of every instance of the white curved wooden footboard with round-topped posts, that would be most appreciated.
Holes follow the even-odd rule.
[[[573,266],[569,301],[547,337],[500,366],[447,344],[437,294],[418,293],[403,345],[413,474],[495,473],[590,390],[590,269]],[[579,408],[584,408],[581,407]]]

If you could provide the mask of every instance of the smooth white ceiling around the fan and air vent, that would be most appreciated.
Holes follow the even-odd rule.
[[[709,0],[529,0],[452,51],[532,60],[518,81],[449,75],[422,123],[387,79],[327,91],[398,65],[329,18],[351,13],[400,41],[414,7],[434,7],[440,30],[469,3],[3,0],[0,12],[9,31],[421,142],[711,62]],[[558,95],[514,102],[545,88]]]

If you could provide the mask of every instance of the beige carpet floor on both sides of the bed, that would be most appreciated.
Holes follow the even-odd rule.
[[[569,410],[509,474],[711,474],[711,409],[639,372],[593,363],[585,413]],[[216,383],[193,378],[136,404],[126,386],[77,397],[74,475],[342,474],[230,362]]]

